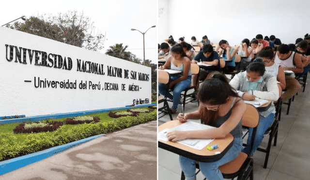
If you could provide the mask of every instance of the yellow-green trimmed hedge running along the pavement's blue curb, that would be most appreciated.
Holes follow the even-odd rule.
[[[64,131],[66,125],[53,132],[30,133],[22,143],[16,142],[12,133],[0,133],[0,161],[23,156],[50,147],[67,144],[93,135],[103,134],[157,119],[157,111],[142,113],[137,117],[126,116],[115,121],[81,124]]]

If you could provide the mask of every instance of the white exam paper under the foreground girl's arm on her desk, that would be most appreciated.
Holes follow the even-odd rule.
[[[215,127],[204,125],[204,124],[193,122],[193,121],[187,121],[186,123],[181,124],[180,126],[176,126],[171,129],[164,129],[163,131],[160,131],[157,137],[159,140],[168,141],[167,133],[170,131],[195,131],[195,130],[205,130],[205,129],[213,129],[213,128]],[[198,149],[198,150],[202,150],[213,140],[214,139],[185,139],[185,140],[178,141],[178,143],[183,144],[188,147]]]

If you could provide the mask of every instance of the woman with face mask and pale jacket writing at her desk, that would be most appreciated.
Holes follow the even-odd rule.
[[[250,63],[247,67],[247,71],[235,75],[229,84],[237,90],[238,95],[244,100],[254,100],[257,97],[276,101],[279,98],[279,88],[276,77],[265,72],[265,66],[262,61]],[[271,103],[267,110],[260,112],[260,120],[257,126],[251,155],[253,155],[255,150],[260,146],[263,140],[263,134],[271,126],[275,113],[276,108],[273,103]],[[247,147],[243,149],[245,153],[248,153],[250,148],[252,131],[253,129],[250,128]]]

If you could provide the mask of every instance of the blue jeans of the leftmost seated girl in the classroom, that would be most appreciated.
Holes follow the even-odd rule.
[[[175,81],[176,79],[179,79],[181,76],[171,76],[170,82]],[[169,87],[166,84],[158,84],[158,90],[159,93],[163,96],[173,99],[173,106],[171,109],[176,110],[178,107],[178,104],[181,99],[181,93],[182,91],[186,90],[187,87],[190,86],[192,83],[192,76],[187,76],[186,80],[183,80],[181,82],[178,82],[174,84],[173,86],[173,96],[169,93]]]

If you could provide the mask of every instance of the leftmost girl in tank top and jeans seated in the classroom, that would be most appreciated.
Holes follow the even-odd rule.
[[[176,108],[181,99],[181,92],[190,86],[192,80],[192,73],[190,70],[190,60],[186,56],[182,46],[177,44],[171,48],[171,56],[169,56],[167,62],[159,66],[160,70],[173,69],[182,71],[182,75],[171,76],[170,87],[165,84],[158,84],[159,93],[165,97],[173,99],[173,106],[171,113],[176,113]],[[173,96],[169,93],[169,88],[173,88]]]

